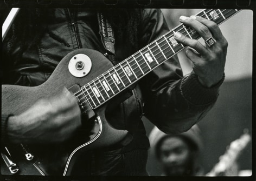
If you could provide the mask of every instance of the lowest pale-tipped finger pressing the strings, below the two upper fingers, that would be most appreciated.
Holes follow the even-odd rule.
[[[195,49],[200,53],[200,55],[208,55],[207,49],[196,39],[188,38],[187,36],[182,35],[180,32],[175,32],[174,38],[183,45],[187,45]]]

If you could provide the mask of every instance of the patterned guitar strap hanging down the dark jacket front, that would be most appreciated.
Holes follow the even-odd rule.
[[[100,29],[100,37],[103,42],[104,48],[106,49],[106,53],[104,54],[114,65],[118,62],[115,61],[115,50],[114,50],[114,32],[111,24],[107,21],[102,12],[97,13],[99,29]]]

